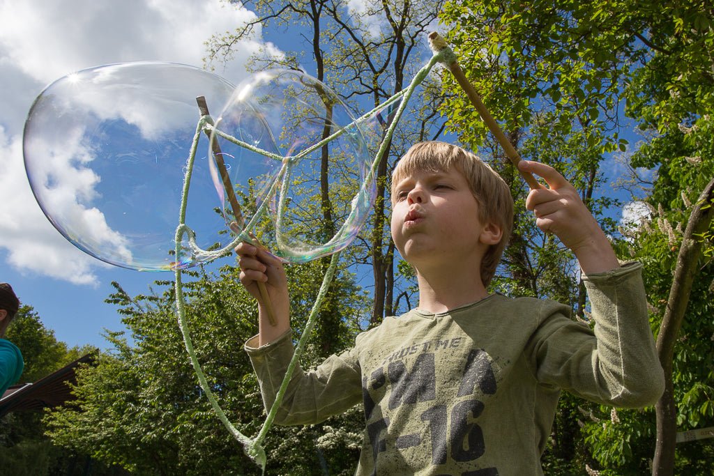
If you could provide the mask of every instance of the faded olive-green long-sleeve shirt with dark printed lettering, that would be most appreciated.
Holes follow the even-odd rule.
[[[594,332],[564,305],[503,295],[386,318],[316,369],[297,368],[276,422],[321,422],[362,401],[358,475],[540,474],[561,389],[624,407],[663,391],[640,269],[585,278]],[[269,408],[291,334],[256,342],[246,350]]]

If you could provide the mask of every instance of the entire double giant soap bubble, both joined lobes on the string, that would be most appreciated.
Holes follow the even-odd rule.
[[[198,96],[210,113],[222,108],[212,143]],[[36,98],[24,156],[34,195],[65,238],[138,270],[215,258],[203,250],[227,249],[234,221],[242,238],[288,261],[314,259],[354,238],[374,196],[360,128],[335,93],[297,71],[258,73],[238,88],[181,64],[79,71]],[[194,241],[183,233],[176,257],[185,179]]]

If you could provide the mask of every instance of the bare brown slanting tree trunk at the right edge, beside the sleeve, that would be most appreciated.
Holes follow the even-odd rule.
[[[714,218],[714,178],[704,188],[689,216],[679,249],[672,288],[657,336],[657,353],[665,373],[665,392],[655,405],[657,415],[657,441],[652,465],[653,476],[674,474],[675,444],[677,432],[677,406],[672,382],[674,345],[682,327],[684,313],[689,303],[692,283],[698,271],[698,261],[703,244],[698,234],[708,230]]]

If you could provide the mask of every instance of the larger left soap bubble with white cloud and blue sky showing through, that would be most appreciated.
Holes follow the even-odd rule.
[[[188,250],[178,263],[174,256],[201,117],[196,96],[219,109],[233,89],[201,69],[154,62],[99,66],[52,83],[36,98],[24,132],[27,176],[49,221],[81,250],[125,268],[169,270],[201,260]],[[186,225],[206,249],[231,239],[207,144],[202,134],[186,210]]]

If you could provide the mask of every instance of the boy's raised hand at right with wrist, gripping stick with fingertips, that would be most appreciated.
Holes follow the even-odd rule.
[[[565,177],[539,162],[521,161],[518,168],[541,176],[548,183],[548,188],[541,186],[528,193],[526,208],[535,215],[538,228],[554,233],[573,250],[585,273],[599,273],[620,265],[598,221]]]

